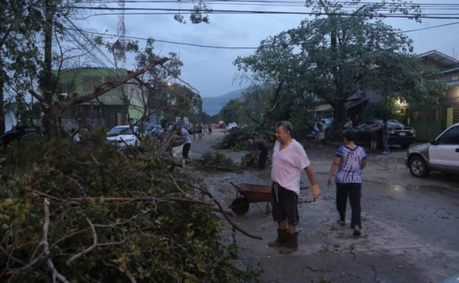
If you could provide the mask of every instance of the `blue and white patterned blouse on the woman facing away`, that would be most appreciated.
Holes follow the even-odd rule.
[[[362,160],[366,159],[365,149],[357,146],[351,149],[345,145],[338,148],[336,157],[341,158],[338,171],[335,174],[337,183],[361,183],[362,182]]]

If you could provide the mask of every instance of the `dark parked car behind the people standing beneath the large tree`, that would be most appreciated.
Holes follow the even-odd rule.
[[[382,129],[383,121],[378,120],[379,127]],[[402,148],[408,148],[410,144],[416,141],[416,130],[408,127],[396,120],[387,121],[391,131],[389,133],[389,144],[399,144]],[[356,133],[356,142],[358,144],[371,144],[370,128],[373,121],[361,122],[356,128],[345,130]],[[379,131],[379,145],[382,146],[382,131]]]

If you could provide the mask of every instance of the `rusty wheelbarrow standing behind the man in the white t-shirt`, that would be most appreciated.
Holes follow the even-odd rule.
[[[249,211],[250,202],[271,202],[271,186],[229,182],[236,189],[236,199],[231,202],[230,208],[238,215]]]

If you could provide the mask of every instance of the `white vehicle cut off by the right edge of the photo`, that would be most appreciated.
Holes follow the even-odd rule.
[[[459,123],[430,143],[411,147],[406,156],[406,165],[415,177],[427,177],[430,171],[459,174]]]

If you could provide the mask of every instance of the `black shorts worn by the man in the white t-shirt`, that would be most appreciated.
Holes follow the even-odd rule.
[[[277,182],[273,182],[271,193],[274,221],[282,222],[287,220],[289,225],[298,224],[299,215],[297,193],[287,190]]]

